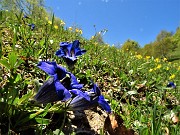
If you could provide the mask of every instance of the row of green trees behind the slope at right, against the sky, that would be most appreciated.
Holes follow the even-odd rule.
[[[178,27],[174,34],[162,30],[154,42],[146,44],[144,47],[140,47],[138,42],[128,39],[120,48],[125,52],[137,52],[143,56],[172,58],[175,57],[174,52],[180,48],[180,28]],[[179,56],[177,55],[176,57]]]

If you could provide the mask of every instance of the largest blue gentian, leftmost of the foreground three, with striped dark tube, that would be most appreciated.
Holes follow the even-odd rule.
[[[77,95],[90,100],[88,94],[81,91],[83,85],[76,77],[56,62],[39,62],[38,67],[51,76],[34,97],[38,103],[67,101]]]

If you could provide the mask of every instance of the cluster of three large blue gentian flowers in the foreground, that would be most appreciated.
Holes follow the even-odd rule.
[[[79,40],[71,43],[61,42],[56,55],[62,57],[68,66],[72,66],[76,63],[77,57],[86,52],[80,48],[79,44]],[[106,112],[111,112],[111,108],[97,84],[93,83],[90,90],[84,91],[82,90],[84,84],[80,84],[71,72],[56,62],[41,61],[37,66],[50,76],[34,96],[37,103],[69,101],[68,110],[85,110],[99,105]]]

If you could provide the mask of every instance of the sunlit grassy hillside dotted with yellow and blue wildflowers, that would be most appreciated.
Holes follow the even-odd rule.
[[[18,7],[0,11],[0,134],[180,133],[178,61],[142,56],[96,39],[87,40],[82,37],[83,30],[66,28],[65,22],[48,14],[43,6],[34,7],[32,14],[25,14]],[[68,65],[66,57],[55,55],[63,44],[77,41],[80,49],[69,52],[66,48],[63,54],[74,58],[76,51],[80,51],[73,64]],[[179,51],[177,48],[173,52],[174,59],[179,59]],[[59,75],[58,66],[66,68],[65,76],[61,77],[64,70]],[[51,77],[53,81],[49,80]],[[92,87],[92,82],[101,93],[89,92],[99,90],[95,85]],[[67,93],[74,89],[88,91],[91,100],[78,103],[84,103],[81,107],[86,111],[74,111],[72,118],[69,105],[77,93],[71,93],[71,99],[64,102],[53,91],[56,83],[62,84]],[[36,102],[38,98],[35,100],[34,96],[41,90],[44,93],[39,93],[40,98],[45,95],[52,102],[43,102],[47,101],[44,99]],[[106,100],[102,103],[103,97]],[[111,107],[110,114],[106,112],[105,101]],[[84,121],[78,121],[82,117]]]

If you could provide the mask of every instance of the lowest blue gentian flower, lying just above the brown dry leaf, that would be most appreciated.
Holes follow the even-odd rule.
[[[69,104],[70,110],[85,110],[99,105],[106,112],[111,113],[111,108],[108,102],[105,100],[104,96],[101,95],[101,91],[96,84],[93,84],[93,88],[87,93],[90,97],[90,101],[86,100],[82,96],[76,96]]]

